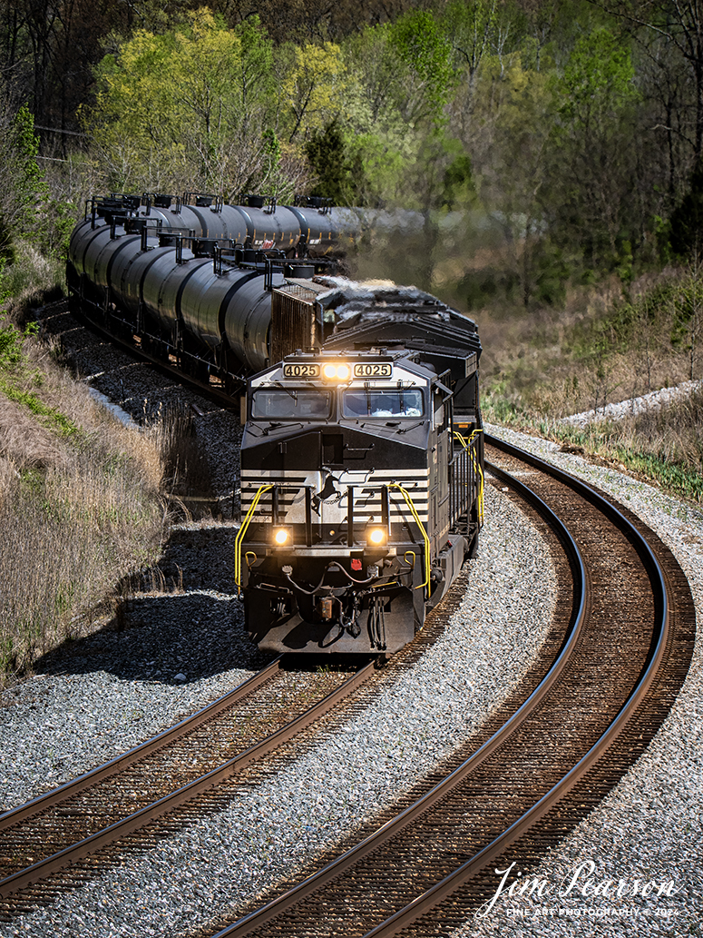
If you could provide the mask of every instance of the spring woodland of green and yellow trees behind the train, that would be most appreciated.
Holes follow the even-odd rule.
[[[666,259],[669,230],[675,254],[698,251],[703,42],[694,41],[690,4],[675,15],[663,3],[624,0],[196,6],[140,0],[93,11],[84,0],[70,8],[60,0],[43,36],[44,0],[31,16],[22,0],[19,19],[2,20],[8,65],[13,22],[17,49],[43,49],[52,68],[62,30],[73,30],[80,49],[88,35],[97,49],[99,38],[107,53],[94,97],[82,78],[58,95],[82,100],[89,136],[75,140],[82,152],[71,136],[45,138],[60,146],[56,156],[42,152],[42,167],[52,180],[64,174],[51,200],[31,113],[16,104],[7,111],[3,126],[18,122],[3,138],[17,171],[0,197],[7,256],[7,233],[22,229],[57,255],[79,191],[109,189],[226,199],[318,189],[339,202],[419,210],[427,256],[438,255],[426,271],[430,286],[441,219],[471,210],[472,224],[501,232],[484,271],[471,262],[456,275],[456,283],[472,278],[479,305],[501,296],[528,310],[555,305],[569,286],[610,273],[626,292],[643,265]],[[77,73],[84,77],[94,54]],[[47,107],[56,114],[54,92]],[[33,106],[44,114],[37,98]],[[74,111],[56,116],[57,132]],[[18,204],[31,223],[15,223]],[[467,234],[465,248],[476,240]],[[482,283],[496,287],[492,300]]]

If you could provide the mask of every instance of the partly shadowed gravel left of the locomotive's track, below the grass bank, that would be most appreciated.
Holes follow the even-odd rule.
[[[0,695],[2,810],[108,762],[259,669],[232,596],[193,591],[129,605],[124,630],[48,656],[41,673]]]

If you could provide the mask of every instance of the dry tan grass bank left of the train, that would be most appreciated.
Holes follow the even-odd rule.
[[[26,367],[5,380],[31,401],[0,392],[0,686],[96,628],[93,611],[119,605],[120,583],[148,575],[193,458],[187,421],[127,428],[51,349],[24,348]],[[45,411],[32,412],[35,399]]]

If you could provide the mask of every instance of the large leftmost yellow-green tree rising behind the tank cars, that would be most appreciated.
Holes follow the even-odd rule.
[[[231,30],[199,10],[160,35],[137,30],[103,59],[97,79],[84,123],[113,188],[233,199],[275,172],[273,53],[256,20]]]

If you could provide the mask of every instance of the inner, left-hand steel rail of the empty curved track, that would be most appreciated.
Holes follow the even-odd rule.
[[[271,919],[276,918],[277,915],[281,915],[292,908],[296,903],[305,900],[307,896],[337,879],[355,863],[358,863],[360,860],[364,859],[366,855],[379,849],[383,843],[396,836],[399,831],[411,825],[418,816],[432,809],[443,797],[449,794],[456,785],[466,779],[478,765],[482,764],[488,756],[501,745],[507,736],[515,731],[516,727],[518,727],[542,701],[548,690],[554,685],[561,672],[566,667],[572,651],[576,647],[587,614],[589,613],[589,581],[583,559],[574,538],[569,534],[564,524],[555,515],[552,509],[548,507],[539,496],[531,492],[527,486],[523,485],[517,479],[508,477],[506,474],[502,473],[501,469],[498,469],[498,467],[490,466],[490,471],[508,481],[522,497],[531,503],[532,507],[535,507],[535,509],[539,511],[540,515],[549,523],[553,532],[560,540],[561,546],[572,568],[575,594],[574,605],[566,637],[561,645],[557,658],[552,662],[540,684],[534,688],[531,695],[522,703],[513,716],[508,719],[496,733],[487,739],[469,759],[457,766],[450,775],[442,779],[413,805],[401,811],[396,817],[386,822],[377,831],[369,835],[365,840],[362,840],[351,850],[338,856],[336,860],[327,864],[322,870],[307,877],[307,879],[282,893],[275,900],[271,900],[263,905],[262,908],[243,916],[225,929],[217,931],[214,938],[232,938],[232,936],[241,938],[243,935],[247,935],[254,930],[262,928],[263,925]]]

